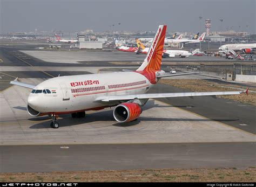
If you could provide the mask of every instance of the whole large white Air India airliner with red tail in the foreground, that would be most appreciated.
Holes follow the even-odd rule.
[[[38,85],[25,84],[17,81],[17,78],[10,83],[32,89],[28,97],[28,113],[32,116],[50,115],[52,128],[59,127],[59,114],[71,113],[72,117],[83,117],[86,110],[116,106],[113,110],[114,119],[118,122],[129,122],[138,119],[142,107],[150,98],[244,93],[147,93],[160,78],[175,76],[165,75],[165,72],[160,70],[165,32],[166,25],[160,25],[147,57],[136,71],[55,77]]]

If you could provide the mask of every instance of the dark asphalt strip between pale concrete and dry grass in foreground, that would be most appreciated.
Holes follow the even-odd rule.
[[[255,142],[1,146],[0,172],[255,166]]]

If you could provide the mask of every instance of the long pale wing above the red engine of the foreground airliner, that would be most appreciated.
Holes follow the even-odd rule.
[[[157,99],[157,98],[174,98],[174,97],[191,97],[191,96],[215,96],[215,95],[235,95],[246,93],[246,91],[234,92],[182,92],[182,93],[153,93],[153,94],[131,94],[131,95],[108,95],[100,96],[95,101],[109,102],[109,101],[123,101],[133,99]]]

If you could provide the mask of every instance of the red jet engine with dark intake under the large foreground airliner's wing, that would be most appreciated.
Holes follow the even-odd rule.
[[[136,120],[142,113],[142,107],[137,103],[125,102],[114,108],[114,119],[118,122],[129,122]]]

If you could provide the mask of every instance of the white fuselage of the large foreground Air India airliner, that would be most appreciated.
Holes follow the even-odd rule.
[[[38,84],[32,92],[46,89],[51,93],[30,93],[28,105],[41,113],[64,114],[98,110],[119,102],[94,102],[106,95],[142,94],[152,86],[137,72],[117,72],[56,77]]]

